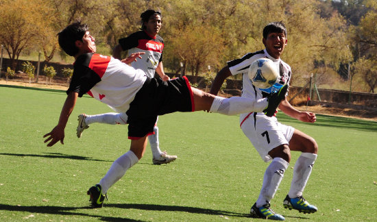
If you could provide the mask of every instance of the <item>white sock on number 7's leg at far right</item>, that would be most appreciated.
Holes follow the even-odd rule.
[[[293,178],[291,182],[291,189],[289,190],[289,197],[301,197],[302,192],[308,182],[311,175],[313,164],[317,159],[317,154],[314,153],[301,153],[301,156],[295,163],[295,169],[293,170]]]

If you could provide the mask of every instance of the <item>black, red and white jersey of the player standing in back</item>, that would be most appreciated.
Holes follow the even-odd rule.
[[[145,52],[141,59],[131,63],[135,69],[142,69],[148,77],[153,78],[158,63],[162,61],[162,50],[164,49],[164,40],[161,36],[151,37],[145,31],[139,31],[131,34],[126,38],[119,39],[123,51],[128,50],[128,55],[136,52]]]

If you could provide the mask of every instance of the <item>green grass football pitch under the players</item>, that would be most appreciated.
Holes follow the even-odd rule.
[[[178,160],[151,163],[151,151],[89,208],[86,191],[130,146],[127,126],[91,125],[77,138],[77,115],[112,112],[77,101],[64,145],[46,147],[66,97],[60,90],[0,86],[0,221],[259,221],[248,217],[268,166],[239,128],[238,116],[206,112],[160,116],[160,147]],[[271,208],[287,221],[377,221],[377,122],[317,115],[317,123],[278,114],[313,136],[319,156],[304,197],[315,214],[286,210],[293,153]]]

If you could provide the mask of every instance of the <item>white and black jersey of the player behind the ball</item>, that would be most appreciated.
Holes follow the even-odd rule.
[[[280,70],[280,77],[276,84],[267,89],[256,88],[247,75],[250,64],[252,64],[252,62],[254,62],[255,60],[258,60],[259,58],[269,58],[273,61],[274,64],[276,64],[276,66],[278,66],[278,69]],[[289,84],[289,81],[291,80],[291,66],[280,59],[277,60],[276,58],[269,56],[266,49],[256,51],[254,53],[247,53],[242,58],[229,61],[228,67],[232,75],[243,75],[242,97],[262,99],[264,97],[267,97],[269,93],[279,90],[284,84]],[[241,119],[244,119],[247,115],[248,113],[241,114]]]

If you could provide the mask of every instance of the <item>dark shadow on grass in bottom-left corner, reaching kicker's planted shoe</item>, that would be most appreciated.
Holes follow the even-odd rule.
[[[96,218],[101,221],[141,221],[141,220],[133,220],[121,217],[104,217],[101,215],[95,214],[84,214],[81,212],[75,212],[75,210],[90,210],[91,208],[88,207],[80,207],[80,208],[73,208],[73,207],[62,207],[62,206],[12,206],[7,204],[0,204],[0,210],[6,211],[19,211],[19,212],[30,212],[30,213],[38,213],[38,214],[55,214],[55,215],[68,215],[68,216],[81,216],[81,217],[91,217]]]

